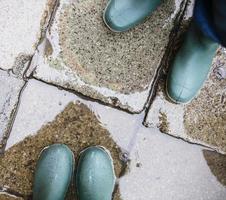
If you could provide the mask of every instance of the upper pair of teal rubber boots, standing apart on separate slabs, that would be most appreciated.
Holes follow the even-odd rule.
[[[163,0],[110,0],[104,22],[114,32],[127,31],[145,20]],[[166,93],[175,103],[187,103],[202,87],[218,44],[193,23],[168,74]]]

